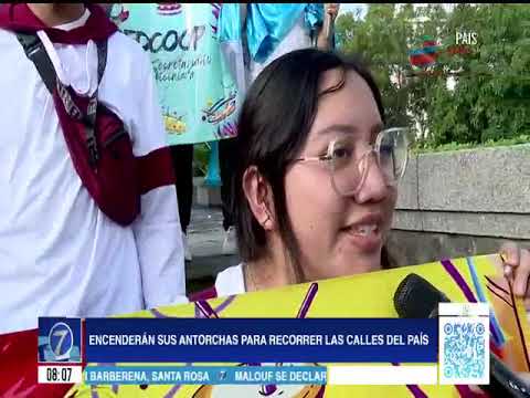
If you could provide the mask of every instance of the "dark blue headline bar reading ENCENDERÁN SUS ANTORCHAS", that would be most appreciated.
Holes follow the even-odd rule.
[[[437,320],[87,318],[91,363],[436,363]]]

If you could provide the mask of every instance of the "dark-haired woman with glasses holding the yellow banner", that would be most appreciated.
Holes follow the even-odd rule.
[[[356,60],[316,49],[271,63],[240,116],[233,211],[242,263],[192,300],[390,268],[390,232],[409,155]],[[501,248],[524,295],[530,253]]]

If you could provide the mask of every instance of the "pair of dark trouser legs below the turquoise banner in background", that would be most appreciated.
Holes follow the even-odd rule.
[[[234,224],[231,211],[231,179],[233,175],[235,139],[221,139],[219,142],[219,168],[221,174],[221,200],[223,202],[223,228],[227,230]],[[179,217],[182,232],[187,232],[191,219],[193,205],[193,145],[171,146],[173,169],[177,178],[177,199],[179,201]]]

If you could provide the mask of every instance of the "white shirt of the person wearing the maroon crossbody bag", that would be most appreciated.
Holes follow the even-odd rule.
[[[60,28],[84,24],[87,12]],[[34,64],[11,32],[0,30],[0,333],[34,328],[38,316],[106,316],[187,302],[174,186],[142,196],[132,226],[108,219],[73,167]],[[95,91],[92,41],[46,50],[63,83]],[[108,40],[98,93],[124,121],[136,156],[166,146],[149,57],[119,32]]]

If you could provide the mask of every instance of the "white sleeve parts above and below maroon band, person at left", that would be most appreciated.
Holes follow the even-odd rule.
[[[137,82],[137,114],[131,132],[132,150],[137,157],[167,146],[152,66],[146,53],[142,53],[141,61],[142,65],[137,67],[144,73]],[[174,185],[158,187],[142,195],[141,213],[132,229],[146,307],[187,302],[184,253]]]

